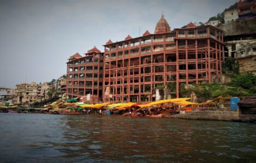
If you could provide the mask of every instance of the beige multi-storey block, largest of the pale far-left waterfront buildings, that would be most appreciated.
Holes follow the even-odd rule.
[[[16,85],[14,103],[34,103],[38,101],[38,84],[21,83]]]

